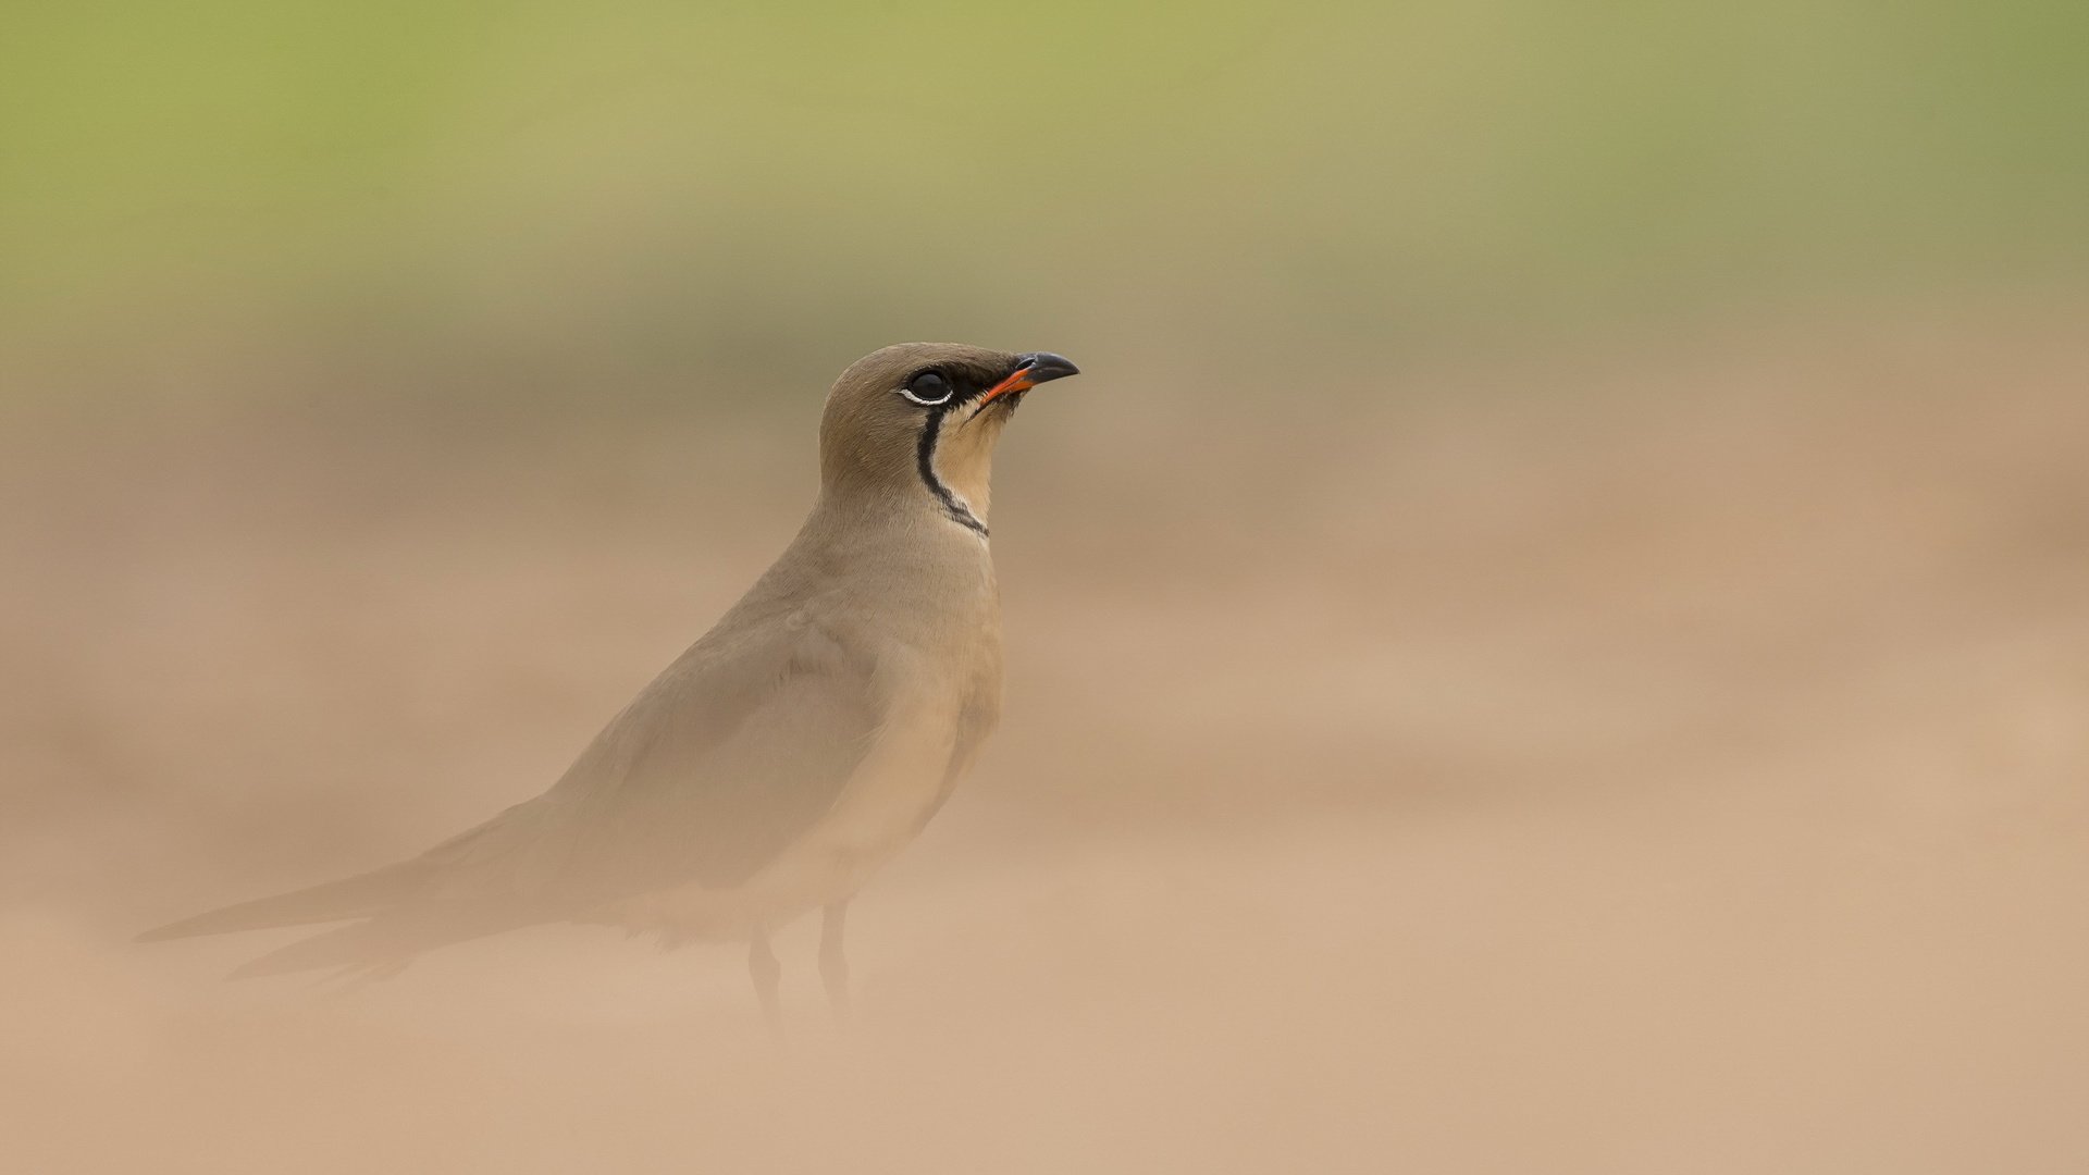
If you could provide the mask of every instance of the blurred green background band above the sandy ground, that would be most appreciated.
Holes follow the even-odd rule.
[[[2083,272],[2085,113],[2079,2],[15,0],[0,378],[602,412],[1951,299]]]

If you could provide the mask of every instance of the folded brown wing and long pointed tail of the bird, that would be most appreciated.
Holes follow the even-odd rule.
[[[347,882],[328,882],[148,935],[366,918],[238,974],[368,968],[679,884],[729,889],[842,794],[882,723],[873,671],[865,650],[783,617],[706,636],[551,790],[374,874],[391,884],[341,895]]]

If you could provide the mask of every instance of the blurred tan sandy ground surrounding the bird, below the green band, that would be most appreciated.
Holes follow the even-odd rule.
[[[723,947],[125,939],[539,790],[788,537],[817,389],[19,416],[4,1167],[2089,1169],[2083,309],[1034,397],[1007,723],[850,1037],[781,943],[781,1054]]]

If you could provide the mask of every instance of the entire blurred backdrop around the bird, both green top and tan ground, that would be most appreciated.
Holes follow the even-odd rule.
[[[0,1167],[2089,1169],[2079,6],[27,4]],[[852,916],[142,926],[545,786],[873,345],[1057,349]]]

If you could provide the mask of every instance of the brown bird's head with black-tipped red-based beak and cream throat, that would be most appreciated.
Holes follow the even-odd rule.
[[[986,533],[994,441],[1024,393],[1080,374],[1051,351],[1013,355],[961,343],[898,343],[834,381],[819,422],[825,493],[921,496]]]

